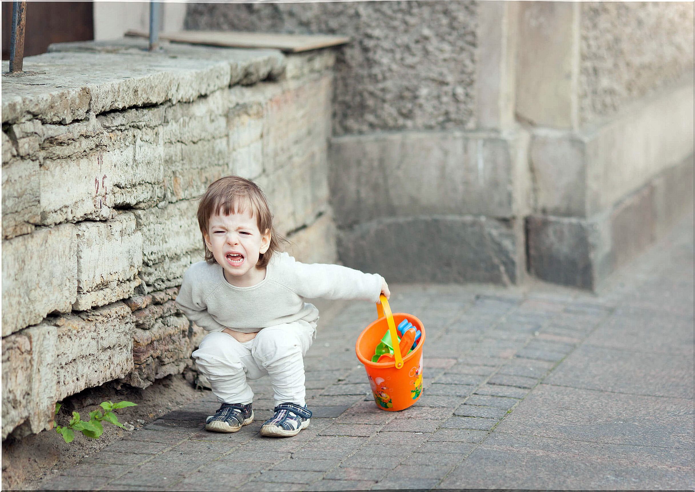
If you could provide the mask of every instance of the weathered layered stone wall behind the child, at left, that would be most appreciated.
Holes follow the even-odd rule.
[[[85,388],[190,365],[203,333],[174,298],[215,179],[254,179],[295,256],[336,260],[334,52],[145,44],[56,45],[3,75],[3,438]]]

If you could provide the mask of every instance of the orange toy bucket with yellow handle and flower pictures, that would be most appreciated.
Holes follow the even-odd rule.
[[[425,344],[425,327],[414,315],[391,313],[389,302],[383,295],[382,304],[377,304],[378,318],[362,331],[355,344],[357,359],[367,370],[369,384],[372,386],[374,401],[382,410],[398,411],[414,404],[423,391],[423,345]],[[384,315],[385,314],[385,315]],[[386,331],[391,331],[391,340],[396,338],[396,325],[407,319],[421,332],[420,341],[415,350],[402,357],[398,343],[393,343],[393,361],[372,362],[374,350],[382,341]]]

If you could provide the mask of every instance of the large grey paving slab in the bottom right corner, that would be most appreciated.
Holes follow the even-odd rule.
[[[443,489],[688,489],[681,450],[494,433],[441,483]],[[517,473],[515,470],[534,470]]]

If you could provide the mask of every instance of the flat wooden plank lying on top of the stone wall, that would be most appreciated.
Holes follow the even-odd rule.
[[[126,36],[147,38],[145,31],[128,31]],[[331,35],[246,33],[242,31],[179,31],[161,33],[159,39],[190,44],[208,44],[230,48],[274,48],[286,53],[327,48],[350,42],[350,38]]]

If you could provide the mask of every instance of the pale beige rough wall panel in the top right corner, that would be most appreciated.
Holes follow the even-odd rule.
[[[692,72],[693,10],[689,2],[582,3],[582,121],[612,115]]]

